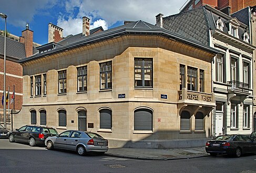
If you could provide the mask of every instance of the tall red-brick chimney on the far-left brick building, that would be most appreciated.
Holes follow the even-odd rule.
[[[28,23],[26,24],[26,29],[22,31],[22,36],[19,37],[19,42],[25,45],[26,57],[33,55],[33,34],[32,30],[29,30]]]

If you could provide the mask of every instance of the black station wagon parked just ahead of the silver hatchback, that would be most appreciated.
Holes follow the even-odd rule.
[[[58,135],[53,127],[39,125],[25,125],[9,133],[9,142],[26,142],[30,146],[45,145],[45,139]]]

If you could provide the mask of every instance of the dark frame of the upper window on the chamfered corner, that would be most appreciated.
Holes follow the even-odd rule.
[[[139,70],[140,72],[137,72]],[[145,74],[145,70],[150,71],[149,72],[150,80],[146,80],[145,75],[147,75],[148,73],[146,72]],[[140,74],[140,80],[136,80],[137,79],[136,74]],[[141,81],[141,85],[138,85],[139,83],[138,81]],[[146,81],[149,81],[149,85],[146,85]],[[134,58],[134,87],[135,88],[153,88],[153,59],[152,58]]]

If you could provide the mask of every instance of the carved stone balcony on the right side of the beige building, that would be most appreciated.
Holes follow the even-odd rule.
[[[188,91],[186,88],[182,88],[178,91],[178,113],[184,109],[188,109],[193,115],[196,115],[198,111],[204,113],[204,115],[209,115],[212,109],[216,106],[214,94],[204,93],[198,91]]]

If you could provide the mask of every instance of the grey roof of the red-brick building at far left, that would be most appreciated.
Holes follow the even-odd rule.
[[[4,37],[0,36],[0,55],[4,56]],[[6,38],[6,58],[26,58],[25,45],[16,40]]]

